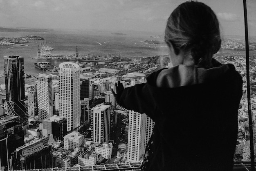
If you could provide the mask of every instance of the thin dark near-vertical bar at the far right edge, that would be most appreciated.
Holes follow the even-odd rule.
[[[250,73],[249,73],[249,40],[248,40],[248,25],[247,25],[247,8],[246,0],[244,4],[244,17],[245,17],[245,55],[246,55],[246,82],[247,82],[247,102],[248,102],[248,118],[249,118],[249,132],[250,132],[250,151],[251,151],[251,171],[254,171],[254,142],[252,131],[252,110],[251,110],[251,92],[250,92]]]

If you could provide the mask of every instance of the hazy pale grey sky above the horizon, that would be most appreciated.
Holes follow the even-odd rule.
[[[163,33],[184,0],[0,0],[0,27],[152,31]],[[243,0],[202,0],[224,35],[244,35]],[[256,36],[256,1],[247,0],[249,33]]]

